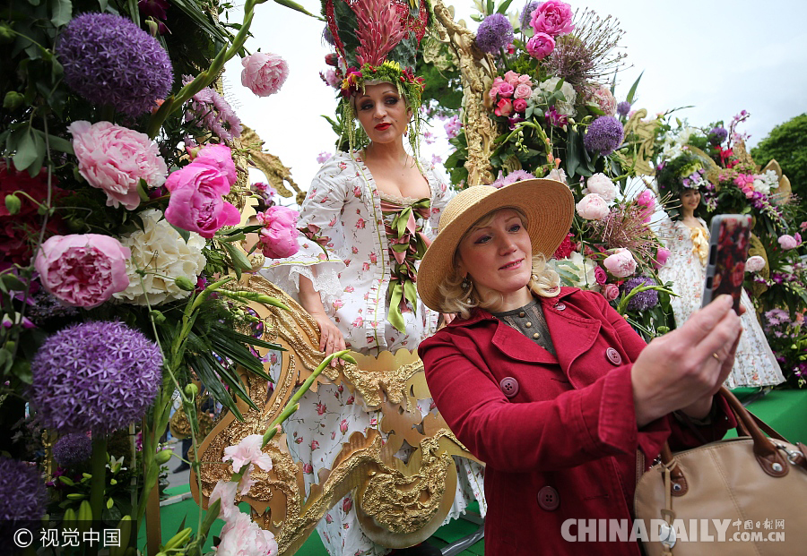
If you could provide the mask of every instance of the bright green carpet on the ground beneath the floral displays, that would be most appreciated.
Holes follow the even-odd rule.
[[[737,397],[747,399],[753,395],[753,389],[735,390]],[[777,432],[782,434],[788,441],[802,441],[807,443],[807,390],[773,390],[762,398],[755,399],[748,406],[751,412],[760,419],[772,426]],[[727,436],[734,436],[731,431]],[[175,496],[188,492],[187,484],[170,488],[167,490],[169,496]],[[241,506],[242,511],[248,511],[247,505]],[[199,508],[193,499],[182,500],[176,504],[161,508],[162,539],[166,542],[180,529],[186,526],[196,527],[199,518]],[[205,551],[210,551],[213,535],[219,535],[224,522],[216,520],[211,529],[211,537],[205,546]],[[473,534],[477,526],[464,519],[457,519],[446,526],[438,529],[438,532],[430,538],[430,543],[442,548],[449,543],[454,543],[464,536]],[[145,527],[140,531],[138,546],[145,546]],[[484,554],[484,540],[461,552],[462,556],[482,556]],[[308,537],[308,541],[299,549],[296,556],[327,556],[325,547],[319,540],[319,536],[314,533]]]

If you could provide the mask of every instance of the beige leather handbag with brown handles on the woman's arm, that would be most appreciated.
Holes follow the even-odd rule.
[[[739,437],[676,454],[665,444],[637,483],[647,556],[807,554],[807,449],[720,393]]]

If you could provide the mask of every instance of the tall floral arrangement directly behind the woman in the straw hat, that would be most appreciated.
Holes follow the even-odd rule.
[[[670,292],[655,270],[669,253],[649,227],[655,196],[628,185],[634,147],[623,123],[638,83],[621,112],[605,84],[623,56],[616,21],[557,0],[527,3],[510,17],[507,2],[495,11],[476,5],[476,44],[496,63],[484,99],[499,131],[493,185],[531,177],[568,184],[576,201],[573,231],[557,252],[545,253],[562,283],[600,292],[647,339],[663,333],[672,323]],[[456,150],[445,166],[463,187],[464,128],[452,131]]]

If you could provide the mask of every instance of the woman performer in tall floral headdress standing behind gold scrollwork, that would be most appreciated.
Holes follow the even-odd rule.
[[[340,8],[342,2],[335,4],[348,9],[347,4]],[[396,4],[387,7],[393,9]],[[364,5],[358,3],[352,9],[360,11]],[[403,5],[409,14],[409,4]],[[356,17],[372,19],[377,14],[357,13]],[[404,21],[407,28],[404,36],[408,38],[398,38],[401,52],[415,51],[426,17],[421,4],[420,19],[393,18],[398,26]],[[368,355],[415,350],[437,329],[439,317],[417,297],[418,266],[453,192],[429,163],[417,158],[423,85],[395,61],[399,48],[387,52],[359,46],[350,52],[333,14],[328,21],[340,57],[346,60],[340,107],[349,149],[325,162],[308,189],[299,218],[306,235],[299,252],[288,259],[267,261],[261,273],[299,295],[300,304],[319,325],[319,347],[325,354],[345,347]],[[404,137],[411,152],[404,148]],[[419,409],[421,415],[428,414],[433,409],[431,400],[419,400]],[[320,469],[331,468],[351,433],[378,428],[380,416],[380,411],[364,406],[358,392],[342,386],[323,384],[317,392],[306,393],[284,428],[292,456],[303,462],[307,491],[317,482]],[[402,451],[398,456],[407,458]],[[458,459],[457,465],[457,492],[447,494],[455,498],[449,518],[458,517],[474,498],[480,501],[483,515],[482,467],[464,459]],[[389,552],[362,533],[350,495],[330,510],[317,531],[332,555]],[[395,553],[439,551],[424,544]]]

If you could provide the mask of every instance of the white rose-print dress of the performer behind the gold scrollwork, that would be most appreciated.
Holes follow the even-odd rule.
[[[421,161],[421,167],[431,197],[428,218],[417,221],[417,232],[432,237],[440,211],[453,192],[438,179],[429,163]],[[422,206],[422,201],[379,192],[358,156],[351,159],[349,154],[337,152],[315,176],[300,211],[299,226],[308,227],[319,243],[300,235],[299,252],[288,259],[267,261],[261,274],[293,296],[299,293],[299,276],[308,277],[322,297],[325,312],[354,351],[378,355],[382,350],[395,352],[401,347],[414,350],[435,331],[438,313],[417,300],[415,311],[411,304],[402,303],[402,307],[406,305],[400,312],[403,332],[387,320],[387,290],[394,281],[396,264],[390,255],[386,228],[395,218],[388,210],[391,205],[405,209],[418,203]],[[399,324],[399,328],[404,327]],[[433,402],[422,399],[418,406],[426,415],[433,409]],[[332,467],[351,433],[377,428],[380,416],[380,411],[368,410],[361,399],[341,385],[322,384],[316,392],[306,393],[284,429],[290,438],[292,456],[303,462],[307,495],[311,484],[317,482],[319,470]],[[480,501],[484,514],[482,467],[456,459],[459,482],[447,519],[457,518],[474,498]],[[332,556],[380,556],[389,552],[361,531],[351,495],[330,509],[317,524],[317,531]]]

